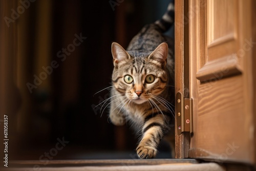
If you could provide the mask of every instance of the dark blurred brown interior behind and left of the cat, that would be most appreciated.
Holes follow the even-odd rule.
[[[108,110],[98,105],[109,97],[111,44],[126,48],[168,3],[3,0],[0,127],[2,134],[7,115],[9,160],[45,153],[49,159],[134,158],[137,137],[129,125],[109,123]]]

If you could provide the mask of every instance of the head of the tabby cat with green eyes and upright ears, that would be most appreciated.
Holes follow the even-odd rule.
[[[134,103],[144,103],[163,92],[168,76],[166,61],[168,46],[160,44],[153,52],[125,51],[113,42],[114,88]]]

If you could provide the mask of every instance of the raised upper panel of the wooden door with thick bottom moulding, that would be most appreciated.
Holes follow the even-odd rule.
[[[205,55],[200,56],[201,66],[197,79],[211,81],[229,75],[241,74],[241,55],[238,54],[238,1],[206,1]],[[202,37],[203,38],[203,37]],[[240,52],[240,51],[239,51]],[[202,59],[204,58],[204,59]]]

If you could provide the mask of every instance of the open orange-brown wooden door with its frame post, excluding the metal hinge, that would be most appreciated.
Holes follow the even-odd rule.
[[[255,2],[175,5],[176,93],[194,118],[191,134],[176,126],[176,158],[255,164]]]

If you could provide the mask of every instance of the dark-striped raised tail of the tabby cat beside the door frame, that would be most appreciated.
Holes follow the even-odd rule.
[[[155,24],[162,32],[167,31],[174,24],[174,0],[172,0],[161,19],[157,20]]]

